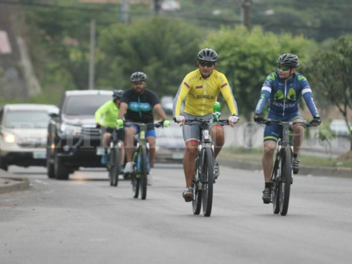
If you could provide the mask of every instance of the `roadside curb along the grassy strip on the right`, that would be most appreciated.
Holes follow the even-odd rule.
[[[263,166],[260,163],[239,162],[230,159],[219,157],[217,159],[220,165],[228,166],[235,169],[245,170],[262,170]],[[314,176],[333,176],[341,178],[352,178],[352,169],[350,168],[333,168],[333,167],[308,167],[300,166],[298,175],[314,175]]]

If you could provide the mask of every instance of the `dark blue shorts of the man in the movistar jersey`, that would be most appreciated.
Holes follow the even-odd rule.
[[[299,118],[303,120],[301,114],[299,112],[293,112],[287,115],[277,115],[269,111],[268,118],[272,120],[280,120],[284,122],[291,122],[295,120],[296,118]],[[266,140],[274,140],[278,141],[278,139],[281,137],[281,127],[279,124],[271,124],[271,125],[265,125],[264,129],[264,141]]]

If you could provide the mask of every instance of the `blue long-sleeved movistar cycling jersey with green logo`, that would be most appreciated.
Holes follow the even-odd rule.
[[[285,82],[279,77],[278,71],[272,72],[265,79],[255,112],[256,114],[261,114],[268,101],[269,111],[277,115],[284,116],[285,114],[297,112],[301,95],[306,101],[312,116],[319,115],[306,77],[301,73],[295,72]]]

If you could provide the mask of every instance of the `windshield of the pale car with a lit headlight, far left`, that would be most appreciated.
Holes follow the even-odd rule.
[[[44,110],[11,110],[5,114],[4,126],[17,129],[46,128],[49,118],[48,111]]]

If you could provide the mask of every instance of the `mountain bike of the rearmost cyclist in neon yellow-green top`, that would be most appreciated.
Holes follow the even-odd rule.
[[[119,174],[121,170],[121,133],[123,130],[114,129],[110,137],[108,148],[108,172],[110,179],[110,186],[117,186],[119,181]]]

